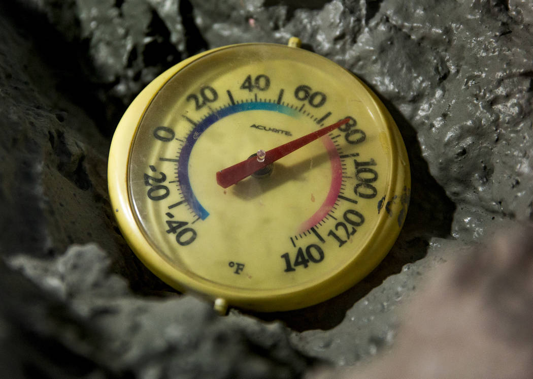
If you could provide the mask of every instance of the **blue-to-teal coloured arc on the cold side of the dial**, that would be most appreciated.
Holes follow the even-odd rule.
[[[189,158],[191,156],[192,148],[194,147],[196,140],[201,136],[201,133],[206,131],[206,129],[215,122],[219,121],[223,117],[238,112],[246,112],[247,110],[269,110],[271,112],[279,112],[292,117],[300,116],[300,113],[298,113],[296,109],[286,105],[276,104],[274,102],[243,102],[216,110],[214,113],[209,114],[207,117],[205,117],[205,119],[201,120],[196,127],[192,129],[192,131],[189,133],[189,136],[187,136],[187,139],[185,140],[185,144],[181,149],[180,159],[177,162],[177,178],[180,183],[183,198],[185,201],[187,201],[192,211],[203,220],[209,216],[209,212],[196,198],[195,193],[192,191],[191,182],[189,179]],[[213,172],[213,181],[214,180],[215,173]]]

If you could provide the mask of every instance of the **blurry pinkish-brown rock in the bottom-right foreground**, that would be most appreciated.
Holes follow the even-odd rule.
[[[531,225],[512,225],[441,265],[406,310],[392,349],[335,377],[532,377],[531,232]]]

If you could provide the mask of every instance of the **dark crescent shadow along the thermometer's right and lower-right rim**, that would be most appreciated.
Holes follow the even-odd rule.
[[[248,314],[264,321],[282,321],[290,329],[299,332],[332,329],[342,322],[346,311],[381,285],[385,279],[400,273],[404,265],[424,258],[432,237],[450,238],[455,204],[431,176],[416,138],[416,130],[389,101],[383,99],[382,101],[398,125],[407,148],[411,168],[409,210],[391,251],[366,278],[332,299],[294,311]]]

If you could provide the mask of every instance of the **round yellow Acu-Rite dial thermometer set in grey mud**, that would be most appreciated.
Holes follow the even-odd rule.
[[[409,163],[391,116],[297,41],[181,62],[139,94],[112,140],[125,239],[162,280],[221,312],[340,294],[383,259],[407,212]]]

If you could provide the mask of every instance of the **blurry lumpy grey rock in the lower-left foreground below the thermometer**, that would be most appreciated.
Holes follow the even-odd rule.
[[[132,295],[126,280],[111,272],[108,254],[94,244],[72,245],[53,260],[17,255],[9,265],[49,297],[26,303],[10,294],[7,305],[13,309],[4,309],[6,321],[19,323],[13,317],[22,316],[30,333],[40,332],[38,337],[60,342],[62,349],[79,355],[87,367],[78,375],[282,378],[301,375],[311,362],[291,348],[279,322],[265,324],[238,313],[222,318],[190,296]],[[36,288],[24,282],[22,290],[35,297]],[[60,312],[50,314],[58,306]],[[33,340],[38,337],[23,337],[18,344],[44,348],[43,342]],[[68,374],[71,369],[31,354],[14,358],[12,373],[22,376],[28,365],[31,374],[48,377],[56,377],[55,370]]]

